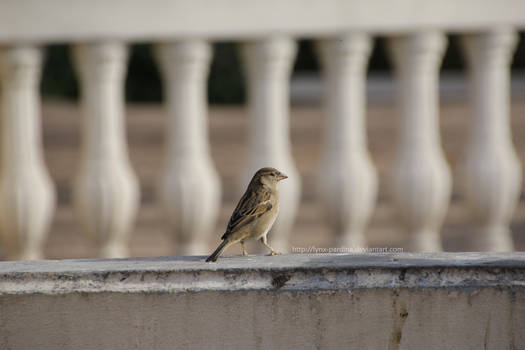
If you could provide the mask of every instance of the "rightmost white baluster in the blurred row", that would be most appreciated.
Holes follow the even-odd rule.
[[[465,194],[477,228],[474,250],[513,249],[509,223],[521,167],[510,132],[510,62],[517,35],[498,30],[463,37],[473,120],[464,164]]]

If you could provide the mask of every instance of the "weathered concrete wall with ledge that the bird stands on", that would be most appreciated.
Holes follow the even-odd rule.
[[[525,349],[525,254],[0,263],[0,349]]]

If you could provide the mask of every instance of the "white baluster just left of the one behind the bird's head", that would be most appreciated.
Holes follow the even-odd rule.
[[[166,43],[157,48],[157,57],[169,114],[160,198],[177,254],[205,254],[221,198],[208,141],[210,45],[201,40]]]

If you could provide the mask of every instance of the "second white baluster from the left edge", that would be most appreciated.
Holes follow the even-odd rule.
[[[127,50],[120,42],[90,43],[74,54],[84,114],[75,207],[100,256],[123,257],[139,203],[124,121]]]

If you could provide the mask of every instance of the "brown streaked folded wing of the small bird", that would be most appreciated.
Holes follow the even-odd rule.
[[[270,211],[273,207],[270,196],[269,191],[246,191],[233,211],[222,239]]]

